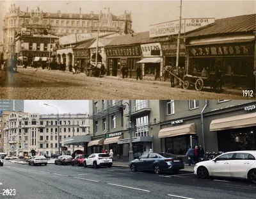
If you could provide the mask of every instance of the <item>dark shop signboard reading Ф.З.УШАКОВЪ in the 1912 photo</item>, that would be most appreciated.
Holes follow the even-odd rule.
[[[188,47],[189,56],[253,56],[253,44],[215,44]]]

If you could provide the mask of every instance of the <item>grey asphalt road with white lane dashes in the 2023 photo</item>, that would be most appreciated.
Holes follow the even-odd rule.
[[[255,198],[256,186],[245,180],[198,179],[193,173],[133,173],[129,168],[29,166],[5,163],[0,167],[0,190],[15,196],[0,198]]]

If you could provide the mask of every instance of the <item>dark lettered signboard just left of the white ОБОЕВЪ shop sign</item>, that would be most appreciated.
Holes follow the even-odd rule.
[[[141,56],[140,47],[106,49],[106,54],[109,57]]]

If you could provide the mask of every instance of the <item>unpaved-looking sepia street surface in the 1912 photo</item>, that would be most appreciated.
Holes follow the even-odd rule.
[[[243,93],[198,92],[171,88],[160,81],[136,81],[120,77],[87,77],[58,70],[20,68],[14,79],[0,71],[0,99],[248,99]]]

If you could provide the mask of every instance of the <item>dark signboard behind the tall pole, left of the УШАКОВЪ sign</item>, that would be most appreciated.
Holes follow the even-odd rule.
[[[161,43],[163,56],[177,56],[177,42],[163,42]],[[180,55],[186,56],[186,46],[182,40],[180,41]]]

